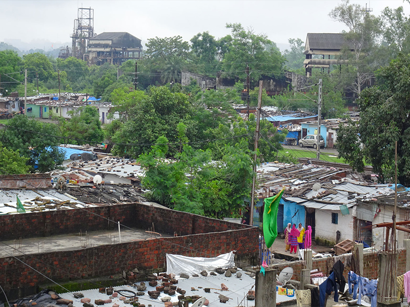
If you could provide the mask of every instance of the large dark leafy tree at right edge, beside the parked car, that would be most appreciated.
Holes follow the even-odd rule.
[[[360,120],[340,127],[337,137],[339,157],[355,169],[371,163],[381,182],[394,178],[395,141],[398,142],[398,180],[410,184],[410,55],[399,55],[379,77],[383,86],[363,90],[358,99]]]

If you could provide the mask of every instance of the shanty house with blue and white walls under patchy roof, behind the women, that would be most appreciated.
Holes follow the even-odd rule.
[[[257,171],[262,182],[260,199],[285,189],[283,210],[278,210],[278,231],[288,223],[302,223],[305,229],[310,225],[313,237],[327,244],[354,238],[372,245],[374,239],[358,233],[358,229],[371,225],[368,220],[373,221],[377,208],[369,211],[361,202],[394,192],[387,185],[374,184],[336,167],[263,163]]]

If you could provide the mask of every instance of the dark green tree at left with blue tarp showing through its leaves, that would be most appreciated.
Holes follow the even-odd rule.
[[[55,124],[16,115],[8,121],[3,145],[10,150],[18,150],[21,156],[28,158],[27,165],[31,172],[48,172],[61,168],[64,161],[64,153],[57,147],[60,144],[58,136],[59,130]]]

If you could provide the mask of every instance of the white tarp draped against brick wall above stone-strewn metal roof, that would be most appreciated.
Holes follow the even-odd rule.
[[[167,274],[174,273],[175,275],[181,275],[185,273],[193,275],[199,274],[203,270],[213,271],[216,268],[233,268],[235,266],[234,258],[235,255],[233,251],[212,258],[167,254]]]

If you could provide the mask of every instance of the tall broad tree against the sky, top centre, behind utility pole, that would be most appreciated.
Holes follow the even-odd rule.
[[[246,63],[253,80],[258,80],[262,73],[278,76],[282,72],[285,58],[266,35],[256,34],[252,28],[245,30],[241,24],[227,24],[227,28],[232,31],[232,43],[222,62],[227,76],[244,80]]]

